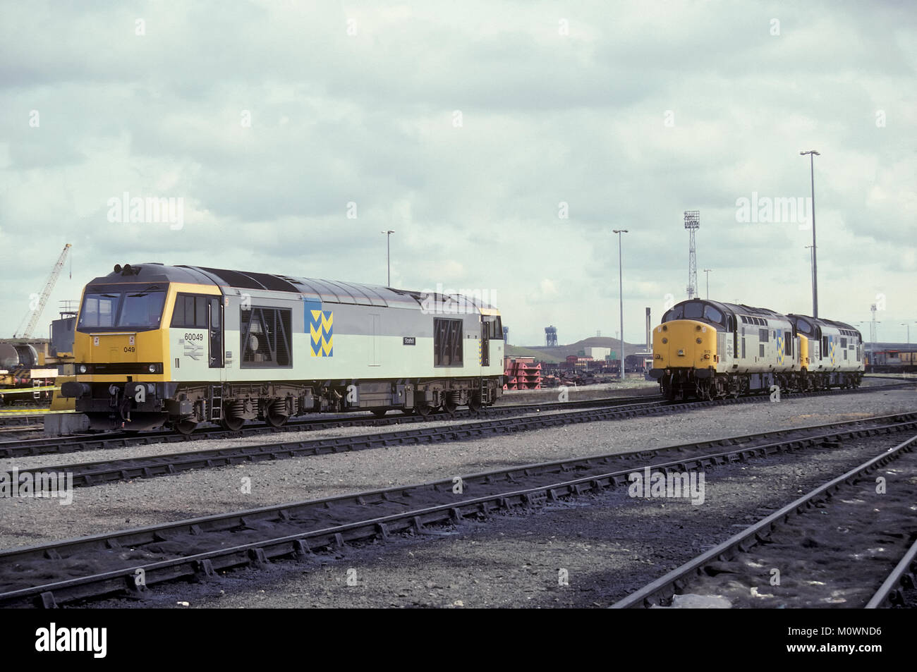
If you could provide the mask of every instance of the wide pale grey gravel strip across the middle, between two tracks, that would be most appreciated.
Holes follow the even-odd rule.
[[[281,501],[301,501],[354,490],[451,478],[512,464],[652,448],[704,437],[742,435],[779,427],[900,413],[915,408],[917,393],[912,390],[830,398],[784,398],[779,403],[573,425],[471,442],[398,446],[234,468],[202,469],[174,477],[77,490],[70,506],[61,506],[53,500],[2,500],[0,546],[34,545]],[[174,448],[174,445],[167,446],[163,452],[174,452]],[[17,460],[5,462],[0,470],[9,470]],[[21,460],[18,462],[17,466],[25,466]],[[243,478],[250,479],[250,494],[241,491]],[[595,507],[582,507],[577,502],[559,508],[569,508],[569,512],[585,518],[596,515],[597,511]],[[522,527],[513,533],[514,537],[518,537],[516,542],[528,536],[524,532],[528,524],[526,520],[529,519],[519,519]],[[485,525],[485,528],[491,529],[491,525]],[[509,533],[503,535],[506,534]],[[597,543],[590,541],[587,533],[583,534],[587,545]],[[538,544],[547,544],[550,538],[541,532],[533,535]],[[499,542],[500,535],[494,534],[493,541]],[[389,556],[389,547],[386,545],[386,557]],[[486,552],[492,553],[494,558],[504,559],[514,558],[519,553],[525,555],[521,546],[512,550],[515,547],[513,544],[505,547],[497,544],[492,551]],[[384,558],[380,559],[382,561]],[[479,566],[480,562],[480,559],[476,560],[473,565]],[[436,583],[436,579],[430,580]]]

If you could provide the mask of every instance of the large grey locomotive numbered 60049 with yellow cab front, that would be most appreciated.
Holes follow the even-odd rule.
[[[480,299],[197,266],[120,265],[83,291],[76,400],[94,429],[391,409],[503,392],[500,313]]]

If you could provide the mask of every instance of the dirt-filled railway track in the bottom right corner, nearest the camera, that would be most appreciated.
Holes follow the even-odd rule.
[[[613,609],[679,606],[697,595],[740,607],[914,606],[915,448],[917,435],[883,450]]]

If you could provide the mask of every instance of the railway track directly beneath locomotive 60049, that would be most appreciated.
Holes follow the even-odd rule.
[[[149,446],[161,443],[185,443],[187,441],[201,441],[205,439],[226,439],[258,435],[282,435],[290,432],[309,432],[338,427],[381,427],[392,424],[430,423],[453,418],[495,417],[501,415],[514,415],[523,413],[537,413],[557,409],[595,408],[619,406],[631,403],[660,402],[662,396],[638,395],[635,397],[612,397],[607,399],[589,399],[578,402],[546,402],[525,403],[491,406],[482,413],[471,413],[468,410],[458,411],[453,415],[436,413],[435,415],[386,415],[381,418],[360,415],[335,415],[331,418],[306,418],[292,421],[282,427],[273,427],[269,424],[249,424],[236,432],[224,429],[205,429],[193,435],[184,436],[167,430],[128,433],[106,432],[104,434],[85,434],[72,436],[57,436],[52,438],[39,437],[18,441],[0,441],[0,459],[8,457],[28,457],[32,455],[52,455],[75,453],[83,450],[97,450],[101,448],[123,448],[127,446]]]

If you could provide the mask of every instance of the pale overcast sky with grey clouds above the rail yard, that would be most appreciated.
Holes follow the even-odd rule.
[[[490,292],[510,343],[614,336],[625,228],[641,342],[687,298],[685,210],[702,295],[811,314],[811,228],[737,204],[808,197],[817,149],[820,314],[880,295],[917,341],[911,2],[0,6],[0,336],[64,243],[38,335],[116,263],[384,284],[386,229],[392,286]]]

